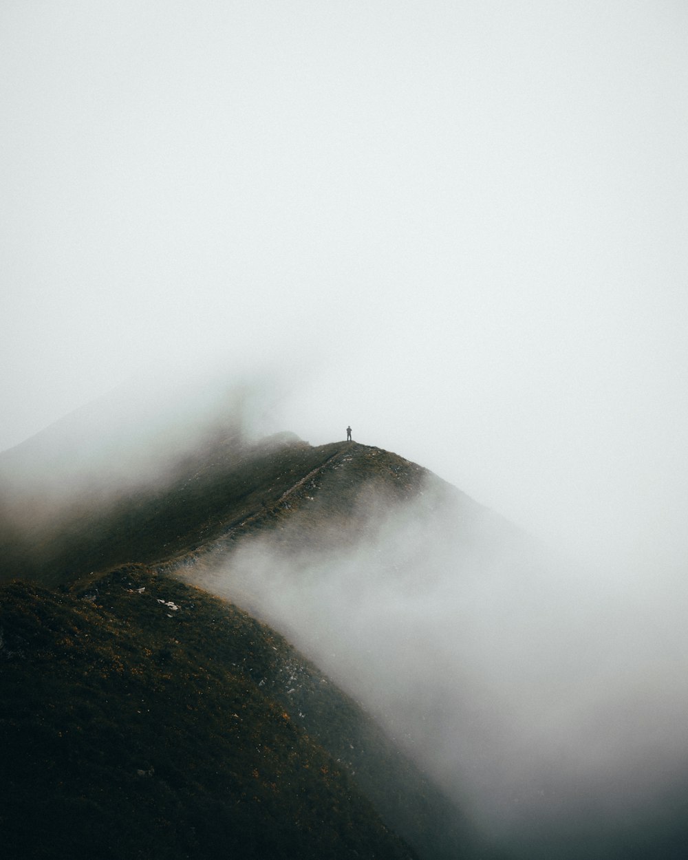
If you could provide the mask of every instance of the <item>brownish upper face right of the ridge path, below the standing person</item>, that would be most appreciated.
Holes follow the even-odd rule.
[[[416,522],[420,514],[428,541],[445,537],[449,520],[452,527],[460,526],[466,549],[488,554],[499,551],[505,541],[527,539],[507,520],[398,454],[355,442],[311,451],[321,462],[277,503],[262,505],[246,519],[218,530],[214,540],[176,554],[167,569],[189,568],[192,581],[208,585],[204,571],[212,576],[225,556],[254,540],[269,541],[282,556],[327,558],[374,541],[396,514]]]

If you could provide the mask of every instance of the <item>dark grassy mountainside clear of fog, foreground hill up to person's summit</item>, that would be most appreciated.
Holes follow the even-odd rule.
[[[365,445],[228,434],[157,482],[82,482],[59,507],[6,495],[0,580],[22,576],[0,592],[6,856],[472,856],[458,810],[352,699],[165,575],[193,580],[287,519],[311,547],[353,540],[362,488],[392,503],[426,475]],[[323,481],[336,492],[315,501]]]

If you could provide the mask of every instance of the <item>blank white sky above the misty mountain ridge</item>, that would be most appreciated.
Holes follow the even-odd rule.
[[[255,361],[313,444],[685,562],[686,46],[682,0],[3,0],[0,449]]]

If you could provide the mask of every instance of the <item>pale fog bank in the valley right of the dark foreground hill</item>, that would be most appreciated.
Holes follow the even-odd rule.
[[[573,566],[432,481],[396,511],[363,495],[353,548],[292,554],[282,526],[191,581],[285,632],[507,856],[609,857],[638,832],[637,856],[666,856],[656,822],[680,826],[688,783],[685,579]]]

